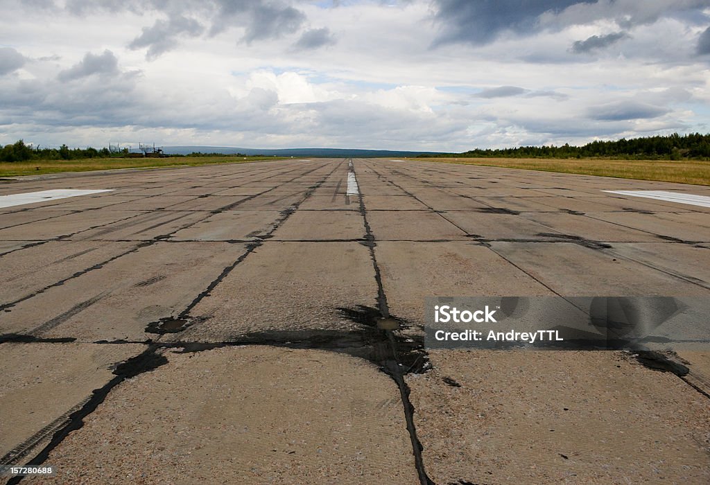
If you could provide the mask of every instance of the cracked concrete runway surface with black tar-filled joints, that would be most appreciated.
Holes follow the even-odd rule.
[[[605,192],[710,187],[392,160],[0,181],[67,189],[111,191],[0,209],[0,464],[57,469],[22,481],[710,482],[710,352],[678,377],[421,330],[427,296],[710,296],[710,208]]]

